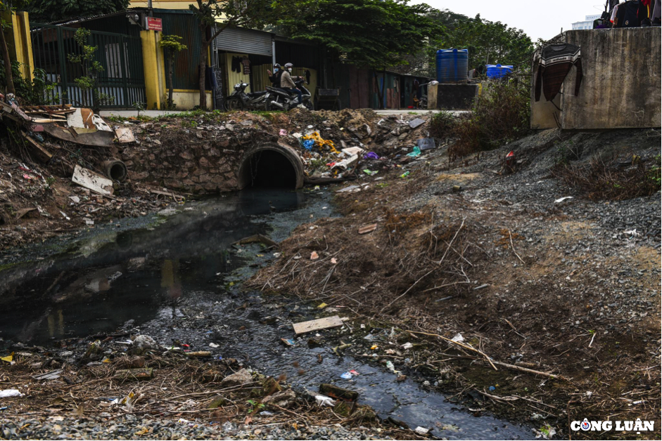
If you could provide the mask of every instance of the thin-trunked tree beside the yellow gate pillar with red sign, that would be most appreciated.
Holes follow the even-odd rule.
[[[198,61],[200,109],[207,108],[205,67],[210,44],[228,27],[262,29],[274,21],[272,0],[196,0],[189,8],[198,18],[200,58]],[[222,20],[222,21],[221,21]]]

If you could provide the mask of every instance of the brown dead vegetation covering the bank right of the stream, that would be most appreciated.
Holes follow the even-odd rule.
[[[312,305],[324,302],[373,326],[395,327],[397,346],[420,345],[407,355],[409,367],[443,379],[444,390],[473,400],[474,408],[520,420],[532,414],[553,418],[564,436],[568,421],[583,419],[580,414],[656,419],[659,366],[637,343],[651,324],[642,323],[632,335],[612,330],[595,342],[599,331],[568,327],[573,308],[594,308],[597,298],[585,297],[588,304],[579,306],[573,296],[566,298],[571,291],[559,286],[557,261],[545,261],[542,269],[528,237],[504,227],[514,219],[489,213],[463,218],[462,196],[442,216],[430,206],[397,208],[435,180],[424,170],[412,174],[420,185],[415,190],[392,172],[357,195],[340,194],[345,218],[301,225],[281,242],[280,260],[258,272],[250,287]],[[359,234],[371,223],[376,230]],[[310,259],[313,251],[319,259]],[[593,282],[581,273],[571,276],[573,284]],[[458,331],[466,347],[449,341]],[[578,357],[588,343],[590,355]],[[397,346],[388,357],[404,360]],[[519,360],[518,351],[526,350],[526,361]],[[489,389],[495,385],[496,391]]]

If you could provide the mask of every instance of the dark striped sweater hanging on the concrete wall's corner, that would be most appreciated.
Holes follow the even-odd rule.
[[[545,94],[545,99],[553,100],[561,90],[561,86],[573,66],[577,68],[575,96],[578,96],[579,86],[582,84],[584,76],[580,47],[574,44],[562,43],[550,44],[542,48],[540,64],[535,77],[535,100],[540,101],[541,88]]]

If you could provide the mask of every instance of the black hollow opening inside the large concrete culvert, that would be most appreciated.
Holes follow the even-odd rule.
[[[276,150],[259,150],[241,166],[241,187],[296,188],[297,173],[290,160]]]

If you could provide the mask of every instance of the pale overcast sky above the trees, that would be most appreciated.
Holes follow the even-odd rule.
[[[572,22],[601,13],[605,4],[600,0],[412,0],[412,4],[418,3],[469,17],[480,14],[485,20],[523,29],[533,41],[550,39],[559,34],[561,27],[571,29]]]

